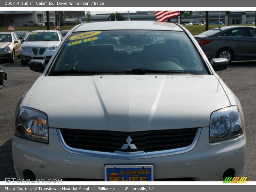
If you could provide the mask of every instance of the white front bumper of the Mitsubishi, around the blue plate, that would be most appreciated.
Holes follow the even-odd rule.
[[[245,134],[216,143],[209,143],[209,127],[202,128],[199,140],[186,153],[140,158],[115,159],[85,156],[66,151],[60,144],[55,128],[49,128],[49,144],[14,136],[12,156],[17,178],[24,179],[26,169],[36,179],[79,178],[104,180],[106,164],[154,164],[154,179],[193,178],[194,180],[222,180],[231,168],[241,176],[245,158]]]

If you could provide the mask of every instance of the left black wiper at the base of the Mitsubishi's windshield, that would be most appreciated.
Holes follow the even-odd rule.
[[[71,69],[71,70],[59,70],[59,71],[51,71],[49,75],[82,75],[82,74],[133,74],[126,71],[84,71],[81,69]]]

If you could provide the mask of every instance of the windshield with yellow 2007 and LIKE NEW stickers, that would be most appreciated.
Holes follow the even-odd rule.
[[[97,72],[208,74],[184,32],[112,30],[73,33],[49,75]]]

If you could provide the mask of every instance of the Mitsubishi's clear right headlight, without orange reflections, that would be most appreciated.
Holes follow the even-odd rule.
[[[210,142],[237,137],[244,133],[241,116],[236,106],[215,111],[210,121]]]

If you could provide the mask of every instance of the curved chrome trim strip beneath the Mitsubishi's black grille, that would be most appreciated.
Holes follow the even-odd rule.
[[[74,154],[78,154],[78,155],[85,155],[85,156],[101,157],[101,158],[113,158],[113,159],[143,159],[143,158],[177,155],[177,154],[186,153],[188,151],[191,151],[196,146],[196,144],[199,140],[201,129],[202,128],[197,129],[197,132],[196,132],[193,142],[187,147],[162,150],[162,151],[146,152],[146,153],[144,151],[136,151],[136,152],[120,152],[120,151],[117,152],[117,151],[115,151],[114,153],[110,153],[110,152],[91,151],[91,150],[71,148],[65,143],[65,141],[61,135],[60,129],[56,129],[56,131],[57,131],[57,135],[59,137],[61,146],[66,151],[68,151],[70,153],[74,153]]]

